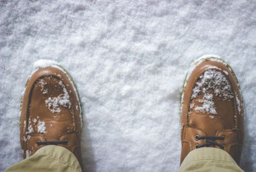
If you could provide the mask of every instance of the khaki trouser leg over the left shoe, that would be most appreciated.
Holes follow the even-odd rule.
[[[9,167],[6,172],[82,172],[75,155],[64,147],[44,146],[31,157]]]

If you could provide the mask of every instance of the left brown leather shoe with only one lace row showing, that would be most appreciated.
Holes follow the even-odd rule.
[[[48,144],[70,150],[83,167],[80,151],[81,106],[70,74],[60,65],[37,68],[21,101],[20,141],[23,158]]]

